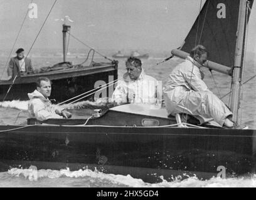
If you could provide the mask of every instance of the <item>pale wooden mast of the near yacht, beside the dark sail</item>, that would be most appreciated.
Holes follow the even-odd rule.
[[[238,16],[238,28],[237,28],[237,43],[235,46],[235,63],[233,67],[232,75],[232,95],[230,109],[233,113],[233,121],[238,122],[238,109],[240,106],[240,89],[241,89],[241,74],[242,74],[242,63],[245,37],[245,17],[247,9],[247,0],[240,0],[239,16]]]

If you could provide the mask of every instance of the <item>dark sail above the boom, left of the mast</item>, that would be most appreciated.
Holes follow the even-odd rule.
[[[253,1],[250,1],[252,6]],[[237,41],[240,0],[207,0],[189,31],[181,50],[189,53],[201,44],[208,59],[232,67]]]

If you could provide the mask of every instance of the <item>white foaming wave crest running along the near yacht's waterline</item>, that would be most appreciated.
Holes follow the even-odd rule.
[[[59,181],[58,185],[54,187],[60,187],[62,184],[65,186],[74,186],[70,184],[70,178],[72,181],[78,181],[80,185],[75,186],[110,186],[110,187],[256,187],[256,174],[250,176],[250,178],[211,178],[209,180],[200,180],[196,176],[188,177],[187,179],[181,180],[179,177],[174,178],[173,181],[168,182],[163,177],[160,177],[163,181],[161,183],[145,183],[142,179],[135,179],[132,176],[127,175],[115,175],[115,174],[104,174],[95,169],[80,169],[78,171],[70,171],[70,169],[51,170],[51,169],[18,169],[12,168],[8,171],[11,177],[23,177],[28,179],[29,182],[40,181],[43,179],[56,179]],[[1,178],[0,178],[1,179]],[[66,183],[65,183],[66,179]],[[14,182],[15,180],[13,180]],[[63,182],[64,181],[64,182]],[[82,181],[84,181],[82,183]],[[50,182],[53,183],[52,181]],[[61,183],[61,184],[60,184]],[[51,186],[51,185],[50,185]]]

